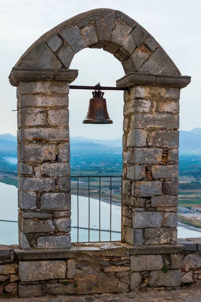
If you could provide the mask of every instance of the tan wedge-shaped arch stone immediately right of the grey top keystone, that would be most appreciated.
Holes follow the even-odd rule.
[[[113,27],[111,41],[116,44],[122,45],[125,37],[129,36],[131,31],[132,27],[128,26],[124,22],[116,20]]]

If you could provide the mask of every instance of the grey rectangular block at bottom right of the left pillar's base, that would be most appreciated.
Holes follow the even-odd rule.
[[[68,249],[70,248],[70,235],[39,237],[38,249]],[[64,277],[63,277],[64,278]]]

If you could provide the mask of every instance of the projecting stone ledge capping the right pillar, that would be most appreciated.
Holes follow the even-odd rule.
[[[184,88],[191,81],[187,75],[168,75],[131,72],[117,80],[117,87],[133,87],[134,85],[155,85]]]

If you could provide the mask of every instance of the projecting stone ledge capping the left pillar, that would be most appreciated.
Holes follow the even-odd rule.
[[[23,68],[13,67],[9,75],[12,86],[29,81],[66,81],[72,83],[78,75],[77,69]]]

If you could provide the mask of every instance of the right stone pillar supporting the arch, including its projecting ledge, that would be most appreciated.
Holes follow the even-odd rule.
[[[132,245],[176,242],[179,95],[189,81],[133,73],[117,82],[130,87],[124,94],[122,230]]]

